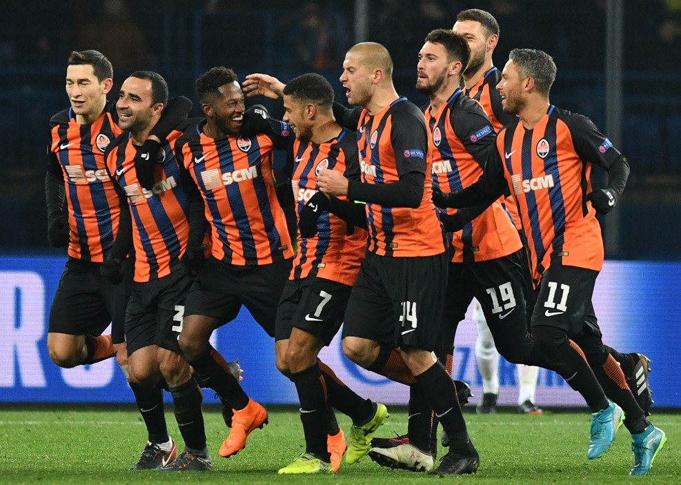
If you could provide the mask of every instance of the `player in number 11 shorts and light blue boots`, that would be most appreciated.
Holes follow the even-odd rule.
[[[589,119],[551,104],[555,72],[546,52],[511,51],[497,90],[504,111],[519,118],[499,132],[480,181],[436,201],[455,207],[515,197],[533,279],[539,282],[531,320],[535,341],[568,384],[582,391],[595,412],[593,426],[602,428],[604,437],[614,434],[622,416],[602,390],[622,406],[635,457],[630,473],[644,475],[667,437],[646,419],[620,366],[604,348],[591,305],[604,259],[595,213],[615,206],[629,164]],[[591,188],[593,164],[608,172],[606,188]],[[600,456],[605,444],[589,446],[587,457]]]

